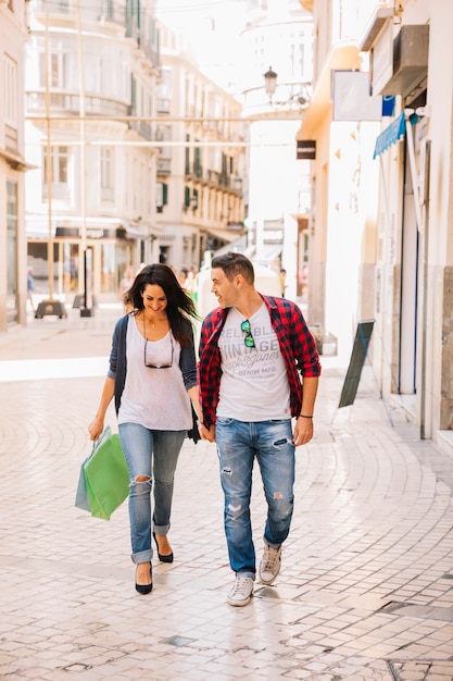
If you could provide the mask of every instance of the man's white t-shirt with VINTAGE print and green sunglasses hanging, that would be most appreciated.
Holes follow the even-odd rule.
[[[218,339],[223,373],[217,416],[239,421],[290,419],[285,360],[264,302],[249,319],[255,347],[244,344],[244,320],[231,308]]]

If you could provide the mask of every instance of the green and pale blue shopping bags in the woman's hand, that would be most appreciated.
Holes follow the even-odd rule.
[[[129,473],[119,436],[106,426],[80,467],[76,506],[85,509],[89,506],[91,516],[110,520],[128,494]]]

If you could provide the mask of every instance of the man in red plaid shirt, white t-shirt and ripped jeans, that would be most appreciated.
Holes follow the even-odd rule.
[[[225,534],[236,572],[227,600],[244,606],[256,572],[250,520],[254,458],[267,502],[260,579],[273,584],[293,510],[294,448],[313,437],[320,364],[299,307],[261,295],[246,256],[213,258],[211,278],[221,307],[201,327],[200,430],[203,439],[217,443]]]

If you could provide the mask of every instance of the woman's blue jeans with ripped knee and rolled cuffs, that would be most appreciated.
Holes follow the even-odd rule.
[[[122,423],[118,433],[130,479],[131,558],[147,562],[152,558],[152,530],[161,535],[169,530],[176,463],[187,431],[150,431],[138,423]]]

